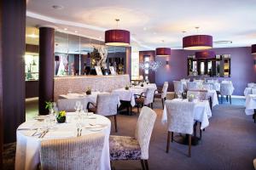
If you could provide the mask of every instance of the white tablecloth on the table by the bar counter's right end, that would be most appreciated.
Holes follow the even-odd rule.
[[[125,90],[125,88],[118,88],[112,91],[113,94],[119,95],[119,100],[131,101],[131,106],[136,105],[134,94],[142,94],[142,88],[129,88],[129,90]]]

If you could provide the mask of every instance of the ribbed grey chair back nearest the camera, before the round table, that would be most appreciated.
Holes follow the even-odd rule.
[[[40,167],[52,169],[99,169],[104,134],[96,133],[79,138],[42,140]]]

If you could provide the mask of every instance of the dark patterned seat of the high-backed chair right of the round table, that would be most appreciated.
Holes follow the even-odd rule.
[[[128,136],[110,136],[110,160],[140,160],[142,150],[137,139]]]

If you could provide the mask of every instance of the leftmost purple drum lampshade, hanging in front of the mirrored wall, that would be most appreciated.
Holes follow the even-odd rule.
[[[105,44],[110,46],[129,46],[130,31],[126,31],[126,30],[105,31]]]

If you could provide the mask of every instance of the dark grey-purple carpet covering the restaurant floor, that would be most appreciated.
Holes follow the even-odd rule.
[[[157,120],[149,146],[150,169],[175,170],[253,170],[256,157],[256,123],[252,116],[244,113],[244,99],[233,99],[234,105],[224,103],[212,109],[210,126],[203,132],[202,141],[192,146],[192,157],[187,156],[187,146],[171,143],[166,154],[166,126],[160,122],[162,115],[160,100],[156,100],[154,111]],[[134,111],[137,111],[136,109]],[[138,114],[118,116],[118,135],[132,136],[135,133]],[[113,132],[113,129],[112,129]],[[14,169],[15,144],[4,147],[4,168]],[[115,169],[141,169],[140,161],[113,161]]]

